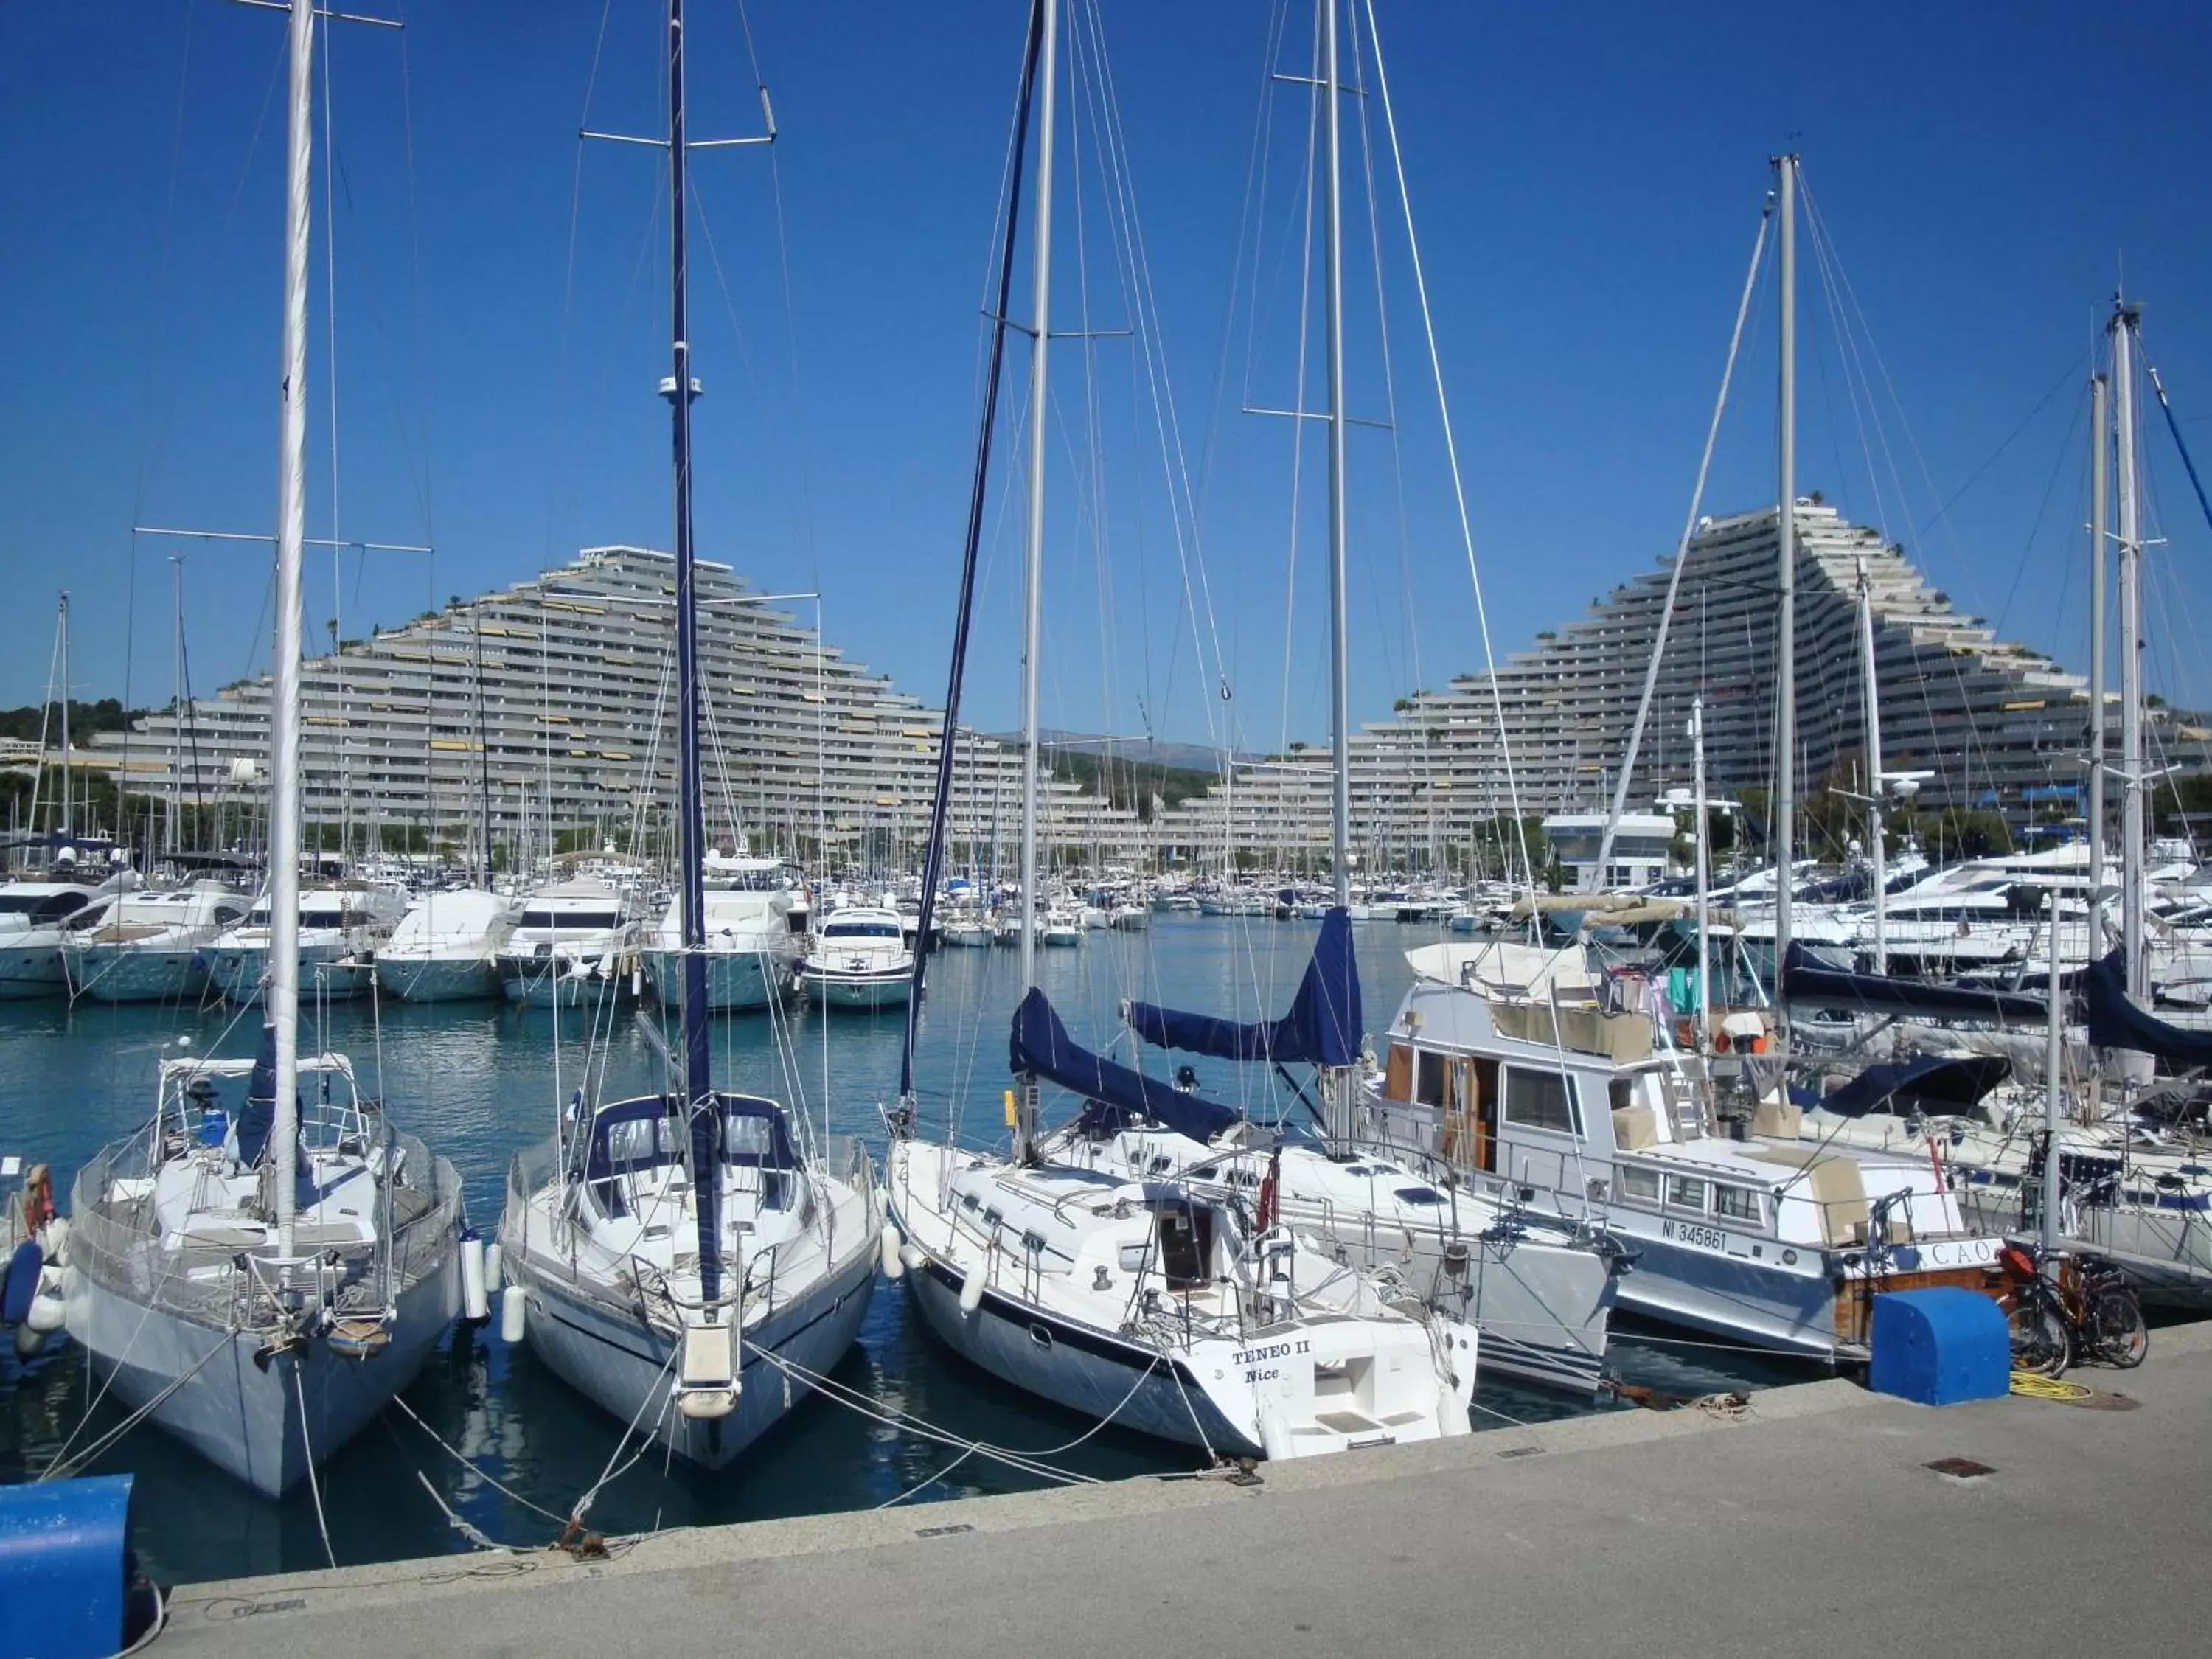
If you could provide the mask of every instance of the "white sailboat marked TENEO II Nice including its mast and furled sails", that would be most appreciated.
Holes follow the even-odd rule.
[[[914,1037],[927,958],[916,960],[900,1060],[900,1104],[889,1115],[891,1221],[898,1267],[922,1318],[962,1358],[1121,1427],[1210,1453],[1298,1458],[1469,1431],[1475,1332],[1418,1303],[1391,1307],[1365,1274],[1329,1261],[1290,1228],[1175,1179],[1108,1175],[1055,1164],[1037,1137],[1044,1084],[1071,1091],[1079,1121],[1164,1121],[1206,1141],[1234,1113],[1084,1051],[1037,987],[1037,675],[1044,573],[1046,361],[1053,246],[1053,104],[1057,0],[1035,0],[1024,51],[1018,133],[1006,190],[989,383],[951,684],[938,750],[938,790],[922,869],[936,900],[945,818],[989,476],[991,422],[1004,363],[1015,215],[1029,106],[1037,113],[1037,186],[1031,389],[1029,553],[1022,633],[1022,980],[1009,1064],[1009,1155],[978,1155],[916,1135]]]

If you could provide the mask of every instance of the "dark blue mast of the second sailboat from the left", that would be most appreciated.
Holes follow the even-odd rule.
[[[684,254],[684,0],[668,0],[668,394],[677,518],[677,891],[684,927],[684,1099],[712,1093],[706,1018],[706,818],[699,781],[699,595],[690,522],[690,270]],[[701,1261],[701,1267],[706,1263]]]

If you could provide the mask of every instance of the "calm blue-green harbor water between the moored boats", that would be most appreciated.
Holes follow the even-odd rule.
[[[1371,925],[1360,931],[1367,1026],[1389,1020],[1409,971],[1402,951],[1433,929]],[[1071,1031],[1104,1042],[1121,998],[1259,1018],[1281,1011],[1312,949],[1305,922],[1155,916],[1148,933],[1091,933],[1077,949],[1040,951],[1040,978]],[[1015,951],[942,951],[918,1051],[918,1095],[931,1133],[964,1119],[971,1141],[1002,1135],[1006,1026],[1020,993]],[[363,1091],[453,1159],[467,1181],[469,1217],[498,1221],[507,1164],[551,1133],[557,1104],[586,1082],[608,1095],[657,1088],[661,1062],[637,1018],[553,1015],[500,1004],[409,1009],[369,1002],[303,1011],[303,1046],[321,1037],[347,1053]],[[717,1075],[774,1093],[836,1135],[883,1146],[878,1106],[898,1086],[900,1011],[737,1015],[717,1026]],[[597,1040],[593,1040],[597,1026]],[[259,1015],[228,1009],[69,1009],[62,1002],[0,1002],[0,1152],[40,1159],[66,1190],[100,1146],[146,1121],[155,1066],[184,1044],[250,1055]],[[1155,1071],[1166,1071],[1152,1057]],[[1256,1068],[1199,1066],[1221,1099],[1274,1113],[1274,1091]],[[1060,1102],[1062,1108],[1068,1102]],[[1630,1380],[1694,1394],[1785,1376],[1790,1367],[1657,1340],[1615,1343],[1615,1369]],[[911,1316],[902,1287],[878,1283],[858,1347],[838,1380],[962,1438],[1046,1451],[1088,1422],[1033,1400],[940,1349]],[[341,1564],[469,1548],[440,1502],[469,1526],[507,1544],[544,1544],[557,1533],[529,1504],[566,1515],[606,1467],[622,1425],[604,1416],[522,1349],[487,1332],[456,1332],[407,1391],[407,1405],[469,1464],[440,1449],[403,1411],[332,1458],[321,1475],[330,1542]],[[1595,1409],[1511,1385],[1478,1391],[1478,1429]],[[91,1411],[91,1420],[86,1420]],[[0,1389],[0,1480],[27,1480],[64,1442],[84,1444],[122,1422],[86,1385],[82,1354],[62,1347],[13,1389]],[[602,1533],[697,1522],[759,1520],[1015,1491],[1029,1475],[982,1458],[938,1480],[958,1453],[827,1400],[807,1400],[734,1469],[706,1475],[646,1458],[613,1482],[591,1511]],[[1192,1469],[1197,1453],[1106,1429],[1053,1458],[1086,1475]],[[314,1500],[301,1489],[265,1502],[215,1473],[166,1436],[139,1429],[93,1473],[137,1475],[135,1544],[155,1577],[206,1579],[323,1564]],[[480,1471],[480,1473],[478,1473]],[[487,1480],[489,1475],[489,1480]],[[515,1498],[498,1491],[509,1486]],[[425,1491],[429,1486],[429,1491]],[[436,1491],[436,1502],[431,1498]]]

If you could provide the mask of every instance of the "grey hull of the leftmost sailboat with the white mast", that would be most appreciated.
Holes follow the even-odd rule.
[[[93,1371],[113,1378],[117,1400],[139,1409],[175,1385],[153,1405],[153,1422],[265,1498],[281,1498],[310,1458],[327,1460],[365,1429],[414,1383],[458,1314],[460,1252],[447,1250],[436,1272],[400,1292],[392,1340],[376,1358],[343,1358],[312,1340],[263,1369],[254,1365],[259,1332],[204,1325],[69,1274],[69,1334]]]

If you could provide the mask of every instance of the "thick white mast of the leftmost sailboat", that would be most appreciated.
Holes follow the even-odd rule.
[[[299,681],[307,535],[307,228],[314,146],[314,0],[292,0],[292,115],[283,208],[283,383],[276,438],[276,661],[270,688],[268,1018],[276,1048],[276,1252],[292,1254],[299,1141]]]

